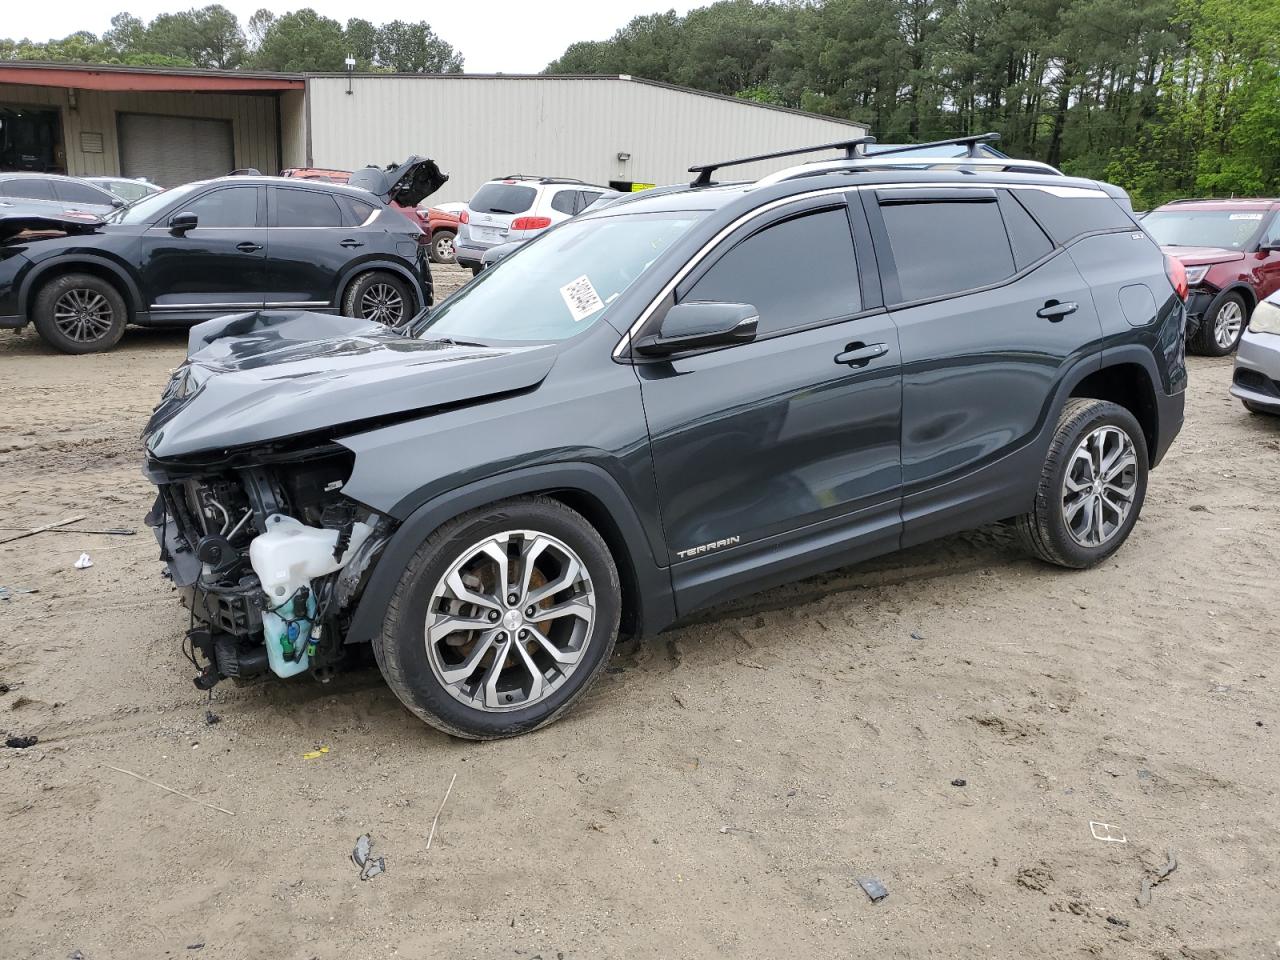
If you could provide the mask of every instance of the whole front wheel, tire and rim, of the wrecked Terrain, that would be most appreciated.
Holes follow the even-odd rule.
[[[608,663],[622,608],[608,547],[545,497],[449,521],[410,561],[374,640],[387,685],[445,733],[550,723]]]

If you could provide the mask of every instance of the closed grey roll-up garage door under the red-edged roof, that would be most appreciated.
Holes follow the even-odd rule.
[[[123,177],[177,187],[236,169],[230,120],[119,114],[118,129]]]

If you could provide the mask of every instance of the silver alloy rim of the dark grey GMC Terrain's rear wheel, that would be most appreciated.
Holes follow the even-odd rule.
[[[1100,426],[1076,445],[1062,479],[1062,518],[1082,547],[1101,547],[1133,509],[1138,454],[1117,426]]]

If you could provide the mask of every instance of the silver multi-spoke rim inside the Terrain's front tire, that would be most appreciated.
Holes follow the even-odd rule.
[[[436,584],[425,621],[428,662],[467,707],[531,707],[577,668],[595,611],[572,548],[531,530],[494,534],[460,553]]]

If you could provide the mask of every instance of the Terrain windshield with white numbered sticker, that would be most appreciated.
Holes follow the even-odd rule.
[[[595,324],[701,210],[566,220],[431,312],[424,339],[564,340]]]

